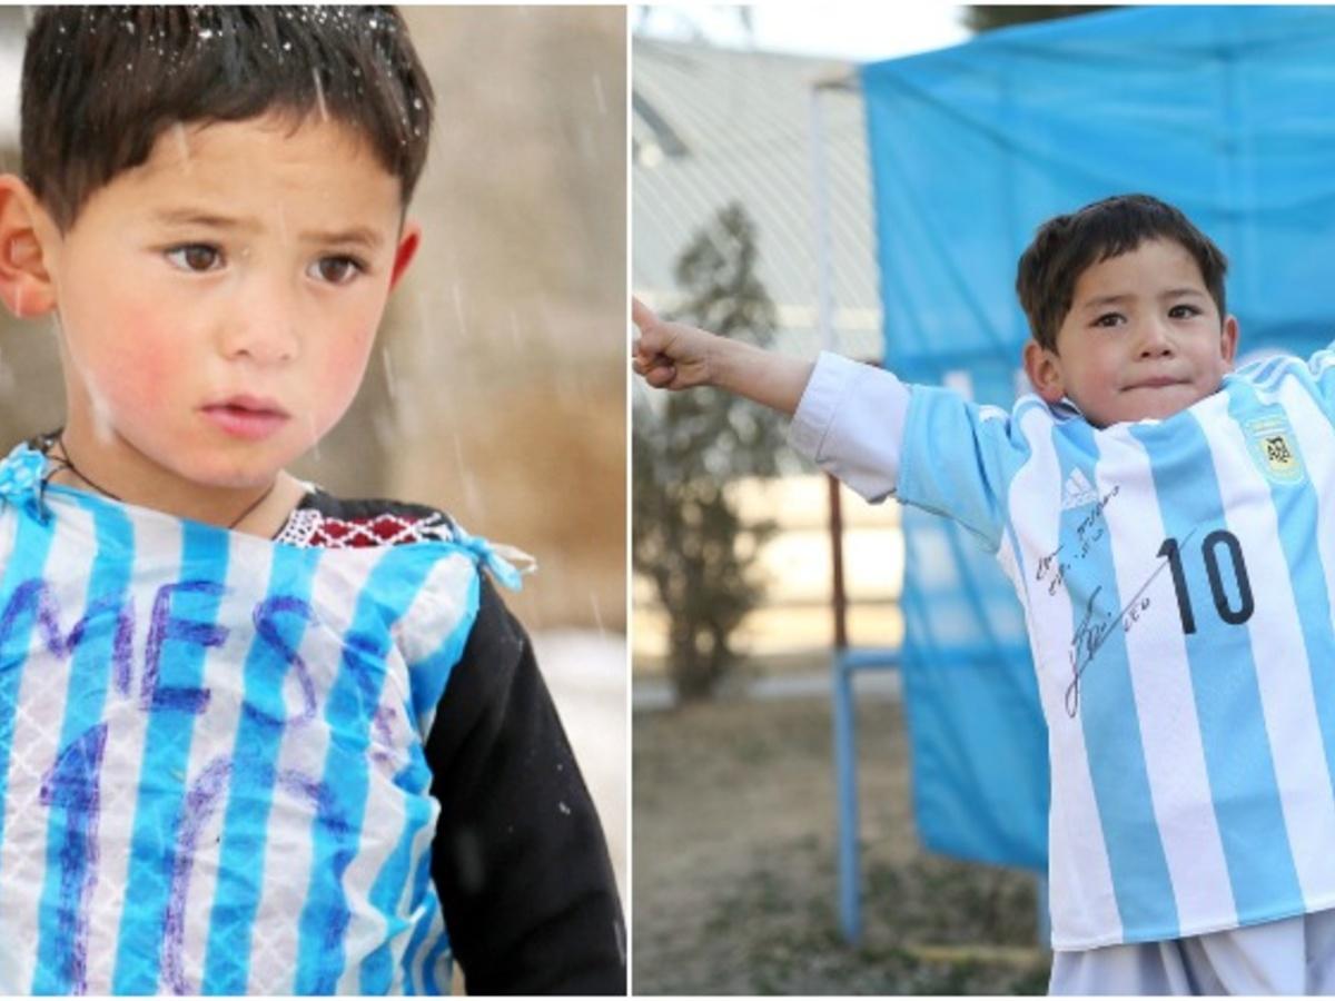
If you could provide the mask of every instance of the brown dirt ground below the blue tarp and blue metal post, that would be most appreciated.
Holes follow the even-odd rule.
[[[1043,993],[1035,880],[917,844],[900,706],[858,698],[860,948],[838,930],[829,701],[633,723],[635,994]]]

